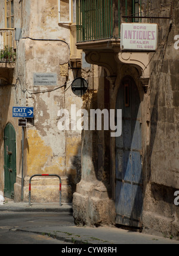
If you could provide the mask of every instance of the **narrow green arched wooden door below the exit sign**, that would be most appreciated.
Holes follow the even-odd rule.
[[[4,196],[14,198],[16,183],[16,131],[11,124],[4,129]]]

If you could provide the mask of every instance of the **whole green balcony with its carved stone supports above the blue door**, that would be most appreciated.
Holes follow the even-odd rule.
[[[121,49],[121,23],[147,22],[142,17],[146,2],[141,0],[76,0],[76,47],[86,54],[90,64],[106,68],[114,83],[118,76],[117,64],[133,65],[142,82],[149,79],[149,54],[125,52]]]

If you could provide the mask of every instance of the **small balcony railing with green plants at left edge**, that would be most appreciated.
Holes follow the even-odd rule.
[[[14,29],[0,29],[0,62],[14,62]]]

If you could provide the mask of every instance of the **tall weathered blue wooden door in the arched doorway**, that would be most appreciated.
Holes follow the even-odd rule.
[[[122,82],[116,109],[122,109],[122,135],[116,137],[116,224],[140,227],[143,207],[141,106],[132,79]]]

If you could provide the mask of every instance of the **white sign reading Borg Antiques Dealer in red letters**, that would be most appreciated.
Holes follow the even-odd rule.
[[[158,25],[153,23],[122,23],[121,49],[155,51],[158,43]]]

